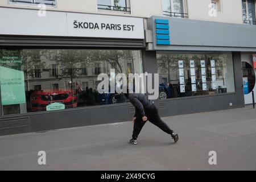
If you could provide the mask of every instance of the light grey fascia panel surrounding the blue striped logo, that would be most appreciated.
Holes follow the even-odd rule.
[[[156,45],[155,19],[168,19],[170,24],[171,45]],[[169,18],[166,16],[151,16],[148,19],[148,29],[153,32],[153,50],[171,50],[175,46],[190,46],[189,50],[202,51],[216,49],[234,51],[256,50],[256,27],[246,24],[207,22],[184,18]],[[217,48],[216,48],[217,47]]]

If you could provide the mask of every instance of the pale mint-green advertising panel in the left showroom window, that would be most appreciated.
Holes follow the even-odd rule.
[[[0,66],[2,105],[26,103],[24,72]]]

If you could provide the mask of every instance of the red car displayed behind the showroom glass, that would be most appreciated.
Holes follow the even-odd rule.
[[[77,96],[71,91],[44,92],[35,91],[31,94],[31,110],[46,110],[46,106],[53,102],[59,102],[66,108],[77,107]]]

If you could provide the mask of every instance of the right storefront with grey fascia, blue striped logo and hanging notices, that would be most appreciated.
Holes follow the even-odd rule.
[[[256,51],[255,26],[151,16],[146,29],[147,50],[156,53],[159,94],[167,98],[159,100],[160,114],[245,105],[241,57]]]

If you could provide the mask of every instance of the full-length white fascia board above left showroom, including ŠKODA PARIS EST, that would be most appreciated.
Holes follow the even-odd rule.
[[[0,7],[0,34],[144,39],[143,18]]]

